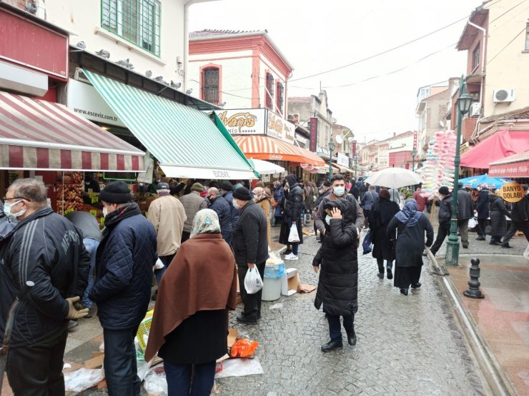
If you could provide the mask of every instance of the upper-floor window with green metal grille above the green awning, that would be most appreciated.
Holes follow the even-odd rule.
[[[101,26],[159,56],[160,8],[157,0],[101,0]]]

